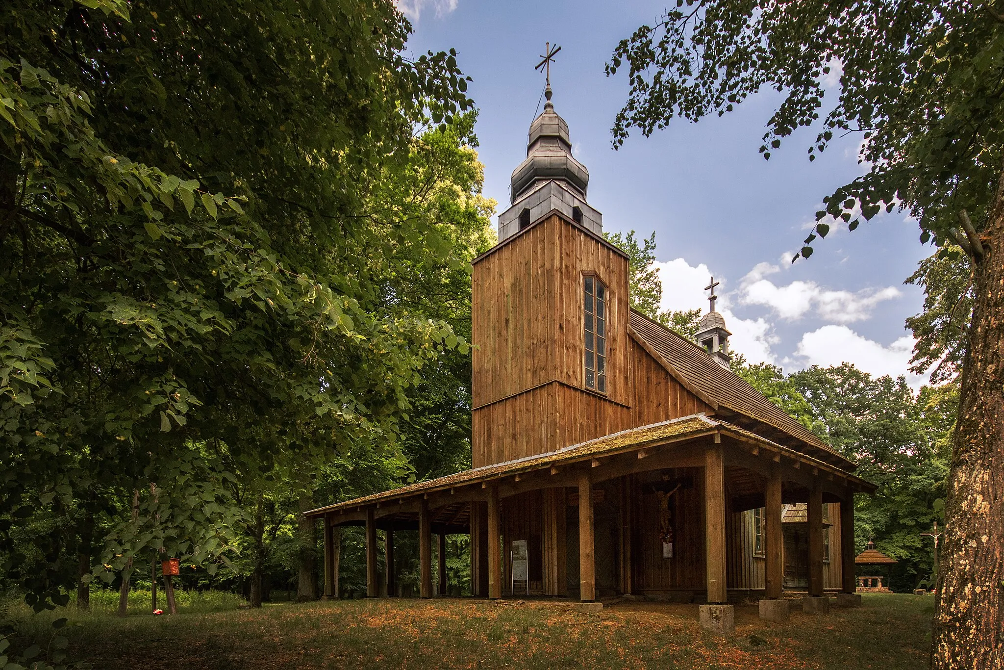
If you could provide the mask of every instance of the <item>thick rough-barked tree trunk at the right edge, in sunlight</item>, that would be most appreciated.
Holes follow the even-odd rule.
[[[982,239],[939,556],[936,670],[1004,667],[1004,173]]]

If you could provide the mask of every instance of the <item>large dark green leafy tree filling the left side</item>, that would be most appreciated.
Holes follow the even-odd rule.
[[[419,371],[466,348],[384,290],[450,244],[372,194],[472,103],[455,54],[404,55],[410,31],[366,0],[5,7],[0,552],[35,607],[77,572],[65,533],[22,532],[39,499],[118,515],[107,579],[166,537],[212,562],[221,464],[393,450]],[[156,532],[121,517],[150,483]]]

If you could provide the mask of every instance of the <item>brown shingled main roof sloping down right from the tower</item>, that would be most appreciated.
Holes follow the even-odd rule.
[[[852,472],[853,463],[830,449],[784,410],[764,398],[745,380],[726,370],[694,343],[641,312],[631,311],[631,333],[645,349],[655,351],[671,375],[716,410],[724,407],[771,426],[801,443],[799,451]]]

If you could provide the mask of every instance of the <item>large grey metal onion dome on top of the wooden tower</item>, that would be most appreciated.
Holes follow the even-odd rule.
[[[558,210],[576,225],[601,235],[602,214],[585,201],[589,171],[571,154],[568,124],[554,111],[550,83],[544,110],[530,124],[526,160],[512,172],[512,205],[499,214],[499,241]]]

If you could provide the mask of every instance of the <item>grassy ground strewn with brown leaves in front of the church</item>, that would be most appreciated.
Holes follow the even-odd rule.
[[[538,602],[342,601],[176,617],[71,614],[68,658],[94,668],[882,668],[927,667],[933,599],[864,596],[859,610],[768,624],[736,606],[736,634],[698,608],[618,603],[598,614]],[[61,616],[65,616],[63,612]],[[47,637],[22,621],[17,646]]]

